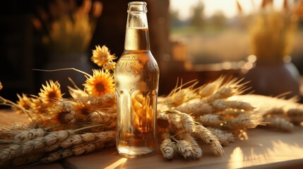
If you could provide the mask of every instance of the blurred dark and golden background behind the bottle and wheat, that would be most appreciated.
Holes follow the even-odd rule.
[[[124,50],[128,2],[6,1],[0,7],[0,81],[4,86],[0,95],[6,99],[16,100],[17,93],[37,94],[41,85],[49,79],[59,80],[61,89],[67,93],[66,86],[72,85],[68,77],[71,77],[78,87],[82,87],[85,77],[73,70],[43,72],[33,69],[77,68],[91,74],[91,69],[97,68],[97,65],[90,61],[96,45],[106,45],[112,54],[121,56]],[[285,18],[280,17],[277,21],[283,23],[283,26],[292,24],[287,22],[288,19],[293,20],[293,14],[297,17],[295,29],[292,29],[290,35],[287,34],[291,37],[291,40],[287,38],[287,49],[291,50],[283,53],[281,57],[283,63],[292,63],[292,67],[286,65],[285,68],[290,70],[295,80],[281,76],[283,73],[280,73],[280,70],[261,70],[261,75],[268,72],[269,77],[278,76],[271,80],[278,88],[278,92],[268,92],[273,88],[271,86],[266,88],[266,93],[259,91],[257,87],[252,91],[271,96],[285,92],[292,92],[291,96],[301,95],[299,89],[303,73],[301,1],[146,0],[146,2],[151,50],[160,65],[160,95],[168,94],[177,84],[178,78],[183,82],[196,79],[199,84],[215,80],[221,75],[245,79],[246,73],[255,68],[256,61],[260,58],[256,55],[256,50],[252,50],[258,45],[251,40],[256,39],[252,38],[251,28],[261,27],[258,25],[261,23],[254,23],[254,18],[258,14],[264,16],[268,11],[275,10],[284,13]],[[265,36],[265,39],[268,37]],[[263,42],[262,39],[260,41]],[[281,39],[276,41],[282,42]],[[264,44],[260,43],[259,46]],[[263,47],[265,51],[273,49]],[[268,67],[271,65],[265,65],[265,68]],[[259,78],[261,75],[255,76]],[[282,81],[289,81],[291,84],[277,83]],[[294,83],[296,84],[292,85]]]

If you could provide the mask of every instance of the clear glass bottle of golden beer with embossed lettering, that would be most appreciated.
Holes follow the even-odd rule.
[[[117,150],[122,156],[151,156],[157,148],[159,67],[150,52],[147,7],[129,2],[124,52],[115,68]]]

